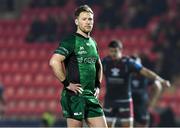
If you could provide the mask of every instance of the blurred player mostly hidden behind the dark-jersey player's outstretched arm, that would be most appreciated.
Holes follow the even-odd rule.
[[[140,58],[132,56],[137,63],[141,63]],[[149,98],[148,86],[152,85],[153,95]],[[132,98],[134,104],[134,124],[135,127],[148,127],[150,115],[148,108],[153,108],[159,98],[162,86],[159,81],[149,81],[139,73],[133,73],[131,77]]]

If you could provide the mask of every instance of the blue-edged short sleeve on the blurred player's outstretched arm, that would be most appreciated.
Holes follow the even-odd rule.
[[[128,66],[131,72],[140,72],[143,68],[143,65],[141,63],[138,63],[133,59],[129,59]]]

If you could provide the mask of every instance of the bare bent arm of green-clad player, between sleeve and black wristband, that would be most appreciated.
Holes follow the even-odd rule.
[[[49,65],[51,66],[52,71],[53,71],[54,75],[58,78],[58,80],[64,81],[65,80],[65,74],[63,72],[62,63],[60,61],[51,59]]]

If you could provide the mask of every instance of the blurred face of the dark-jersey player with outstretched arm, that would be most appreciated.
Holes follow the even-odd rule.
[[[121,57],[121,55],[122,55],[121,49],[120,48],[109,48],[109,55],[113,59],[117,59],[117,58]]]

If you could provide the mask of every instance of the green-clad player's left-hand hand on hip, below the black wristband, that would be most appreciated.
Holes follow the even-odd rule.
[[[83,89],[81,88],[80,84],[73,84],[70,83],[69,86],[66,87],[68,90],[73,91],[74,93],[78,94],[82,94]]]

